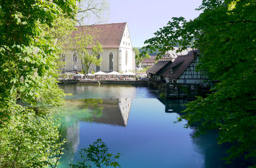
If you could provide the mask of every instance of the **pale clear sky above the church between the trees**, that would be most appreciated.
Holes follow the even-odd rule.
[[[106,23],[127,22],[132,47],[142,47],[171,17],[195,19],[202,0],[108,0]]]

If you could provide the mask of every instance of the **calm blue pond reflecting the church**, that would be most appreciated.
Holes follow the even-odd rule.
[[[78,152],[98,138],[110,153],[121,153],[123,168],[229,167],[217,134],[192,138],[186,121],[174,123],[184,100],[163,100],[147,87],[61,86],[73,97],[54,109],[67,139],[59,167],[79,162]]]

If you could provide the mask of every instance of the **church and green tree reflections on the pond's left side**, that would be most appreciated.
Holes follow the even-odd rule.
[[[80,144],[80,122],[103,123],[126,127],[132,98],[67,100],[66,105],[53,110],[63,125],[61,136],[66,138],[61,167],[73,162]]]

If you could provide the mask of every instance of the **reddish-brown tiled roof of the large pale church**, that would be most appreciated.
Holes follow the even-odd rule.
[[[85,33],[93,36],[94,41],[101,43],[103,48],[119,48],[124,34],[126,22],[103,25],[77,26],[74,34]],[[92,48],[92,46],[88,46]]]

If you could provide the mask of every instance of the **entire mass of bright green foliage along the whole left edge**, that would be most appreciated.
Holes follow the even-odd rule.
[[[62,102],[59,48],[48,30],[60,17],[74,19],[76,3],[0,1],[0,167],[54,167],[59,160],[59,125],[32,109]]]

